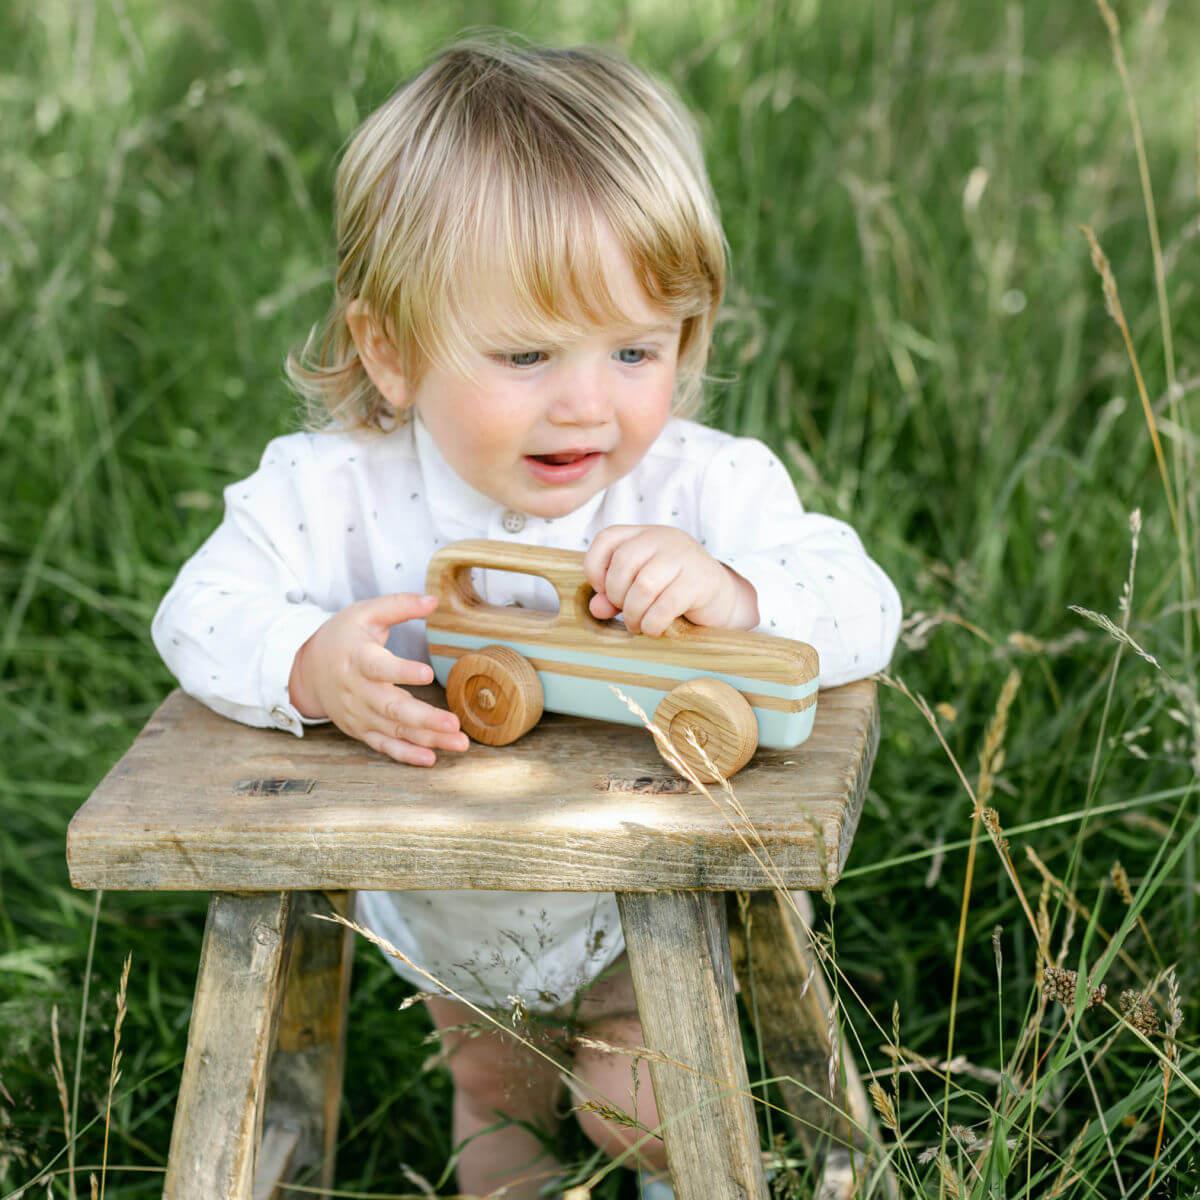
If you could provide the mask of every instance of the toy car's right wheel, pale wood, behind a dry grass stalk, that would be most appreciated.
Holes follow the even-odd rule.
[[[689,679],[672,688],[654,710],[654,724],[706,784],[716,782],[720,776],[689,743],[689,730],[726,779],[739,772],[758,748],[754,709],[742,692],[721,679]],[[659,752],[662,754],[661,748]],[[665,754],[662,757],[671,761]]]

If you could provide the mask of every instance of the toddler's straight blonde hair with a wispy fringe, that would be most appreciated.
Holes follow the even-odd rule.
[[[284,366],[310,425],[391,427],[347,325],[355,300],[409,392],[431,364],[470,376],[462,348],[480,280],[511,288],[493,332],[512,344],[628,319],[605,283],[601,223],[647,299],[682,323],[672,408],[692,415],[726,242],[691,115],[607,49],[449,47],[362,122],[338,164],[334,304]]]

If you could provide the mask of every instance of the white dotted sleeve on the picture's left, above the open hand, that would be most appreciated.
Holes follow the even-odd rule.
[[[319,488],[302,437],[276,438],[258,470],[224,490],[224,518],[180,569],[151,637],[188,695],[246,725],[305,724],[288,696],[296,650],[332,613],[312,546],[323,545]],[[306,499],[306,497],[308,497]]]

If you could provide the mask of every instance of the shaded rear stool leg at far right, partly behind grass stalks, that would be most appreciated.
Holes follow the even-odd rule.
[[[751,1019],[756,1016],[751,985],[757,998],[757,1027],[772,1074],[797,1080],[794,1084],[782,1080],[779,1085],[784,1103],[794,1117],[797,1139],[809,1154],[816,1154],[822,1144],[828,1147],[821,1195],[851,1195],[854,1168],[863,1162],[860,1153],[851,1153],[851,1147],[860,1152],[868,1142],[878,1146],[882,1141],[848,1048],[842,1048],[836,1087],[834,1094],[829,1094],[833,998],[809,946],[806,929],[812,926],[812,900],[806,892],[790,895],[799,917],[778,892],[751,892],[745,910],[749,931],[740,917],[733,918],[737,906],[731,905],[733,965]],[[842,1114],[848,1114],[854,1123]],[[866,1130],[866,1135],[860,1130]],[[835,1177],[842,1182],[834,1184]]]

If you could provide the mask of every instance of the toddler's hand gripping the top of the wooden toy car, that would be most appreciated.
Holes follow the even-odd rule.
[[[593,539],[583,574],[596,594],[593,617],[624,613],[631,634],[658,637],[676,617],[696,625],[754,629],[754,586],[671,526],[608,526]]]

